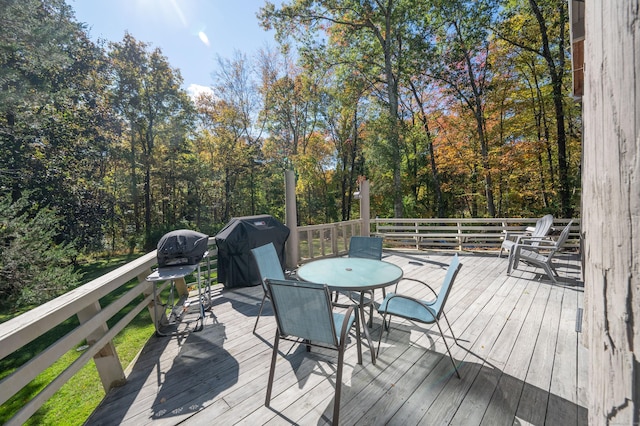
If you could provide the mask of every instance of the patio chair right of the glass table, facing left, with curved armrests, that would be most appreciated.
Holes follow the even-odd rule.
[[[457,345],[458,340],[456,336],[453,334],[453,329],[451,328],[451,324],[447,319],[447,316],[444,313],[444,306],[447,303],[447,298],[449,297],[449,293],[451,292],[451,287],[453,286],[453,282],[458,275],[458,272],[462,268],[462,264],[460,263],[460,259],[456,254],[449,264],[447,269],[447,275],[444,277],[444,281],[442,282],[442,286],[440,287],[440,292],[436,292],[431,286],[429,286],[424,281],[415,279],[415,278],[407,278],[404,277],[400,280],[403,281],[413,281],[420,283],[426,286],[433,295],[435,299],[433,300],[419,300],[410,296],[405,296],[402,294],[398,294],[398,284],[396,284],[396,290],[394,293],[389,293],[378,307],[378,312],[382,314],[382,323],[383,326],[387,329],[387,335],[389,334],[389,329],[391,328],[391,317],[396,316],[400,318],[407,319],[414,323],[421,324],[433,324],[435,323],[438,327],[438,331],[440,331],[440,335],[442,336],[442,341],[447,348],[447,352],[449,353],[449,359],[451,359],[451,364],[453,364],[453,368],[456,371],[456,375],[460,378],[460,373],[458,372],[458,367],[453,360],[453,356],[451,355],[451,350],[449,349],[449,345],[447,344],[447,339],[444,337],[444,333],[442,332],[442,327],[440,327],[440,319],[444,317],[447,326],[449,327],[449,331],[451,332],[451,336],[453,336],[453,341]],[[389,316],[389,322],[387,323],[387,315]],[[380,352],[380,342],[382,341],[382,329],[380,330],[380,337],[378,339],[378,349],[377,353]]]

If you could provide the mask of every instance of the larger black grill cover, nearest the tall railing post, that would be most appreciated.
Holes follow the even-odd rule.
[[[260,284],[258,266],[251,249],[273,243],[285,265],[285,242],[289,228],[269,215],[231,219],[216,235],[218,246],[218,282],[226,288],[250,287]]]

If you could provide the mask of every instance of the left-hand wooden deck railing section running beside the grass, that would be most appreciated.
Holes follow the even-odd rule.
[[[213,246],[211,246],[212,243]],[[217,256],[215,240],[211,238],[209,244],[208,261],[213,265],[211,269],[215,271]],[[7,425],[23,424],[91,359],[95,361],[105,391],[124,384],[126,378],[113,345],[114,337],[144,309],[149,310],[152,321],[160,323],[164,320],[164,309],[159,310],[163,312],[159,315],[160,318],[155,318],[154,306],[156,303],[161,303],[154,300],[153,284],[146,280],[146,277],[151,273],[151,268],[156,263],[156,251],[154,250],[50,302],[0,324],[0,359],[4,359],[60,326],[69,318],[76,316],[79,320],[79,325],[76,328],[35,355],[0,382],[0,405],[29,385],[34,378],[49,368],[62,355],[75,351],[75,348],[85,341],[87,345],[82,355],[31,401],[24,404],[21,410],[6,423]],[[117,300],[107,306],[100,305],[101,299],[132,281],[137,281],[137,284],[125,294],[120,295]],[[169,284],[170,281],[157,283],[158,292]],[[176,279],[175,286],[178,294],[188,293],[184,279]],[[143,300],[134,307],[130,307],[129,305],[140,295],[143,296]],[[116,324],[108,327],[107,321],[125,308],[131,309]]]

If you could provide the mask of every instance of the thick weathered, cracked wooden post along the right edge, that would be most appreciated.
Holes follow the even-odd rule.
[[[589,424],[640,423],[640,4],[585,5]]]

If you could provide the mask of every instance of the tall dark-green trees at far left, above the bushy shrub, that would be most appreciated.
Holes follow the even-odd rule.
[[[58,241],[100,248],[111,126],[102,52],[63,1],[3,0],[0,22],[2,193],[16,200],[28,191],[58,211]]]

